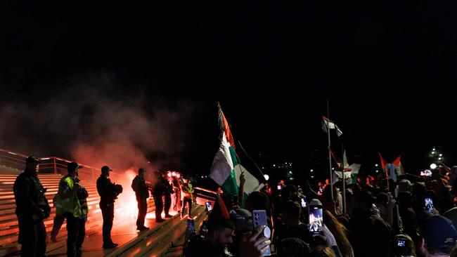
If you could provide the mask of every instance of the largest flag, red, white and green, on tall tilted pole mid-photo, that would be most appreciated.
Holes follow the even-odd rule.
[[[246,178],[244,194],[246,196],[250,192],[260,190],[264,185],[241,166],[228,121],[219,103],[217,103],[217,107],[219,109],[220,143],[211,165],[210,178],[227,194],[238,195],[240,173],[244,172]]]

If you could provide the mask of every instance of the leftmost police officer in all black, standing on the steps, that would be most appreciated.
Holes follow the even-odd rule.
[[[13,190],[18,216],[20,256],[44,256],[46,253],[46,228],[51,207],[44,197],[43,185],[38,179],[39,159],[27,157],[25,171],[16,178]]]

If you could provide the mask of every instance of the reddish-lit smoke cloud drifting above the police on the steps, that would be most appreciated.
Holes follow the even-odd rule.
[[[181,165],[191,100],[120,91],[108,73],[67,83],[36,99],[0,103],[0,147],[115,172]]]

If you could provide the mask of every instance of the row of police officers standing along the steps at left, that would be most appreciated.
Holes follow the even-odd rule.
[[[19,235],[18,243],[21,244],[21,256],[44,256],[46,253],[46,228],[44,219],[51,214],[51,206],[44,193],[46,188],[41,185],[38,178],[40,160],[37,157],[27,157],[25,170],[16,178],[13,185],[18,217]],[[51,241],[57,242],[57,236],[63,222],[67,221],[67,256],[82,256],[82,244],[86,235],[85,223],[89,213],[86,199],[89,197],[87,190],[80,184],[79,166],[76,162],[67,164],[67,175],[60,179],[58,193],[53,197],[53,206],[56,206],[56,216],[53,220]],[[118,244],[112,242],[111,230],[115,215],[115,200],[123,191],[122,185],[112,183],[110,180],[110,167],[103,166],[101,175],[96,181],[98,195],[100,196],[100,209],[103,217],[103,249],[115,248]],[[181,211],[183,217],[185,207],[188,206],[188,218],[191,218],[193,201],[193,186],[187,179],[181,181],[181,173],[169,171],[162,174],[160,171],[153,173],[153,183],[147,183],[144,174],[146,169],[140,168],[138,175],[132,180],[131,187],[138,202],[138,218],[136,230],[148,230],[145,226],[147,200],[152,193],[155,201],[155,222],[172,218],[169,210],[172,204],[171,195],[174,194],[174,209]],[[181,204],[181,195],[183,196]],[[165,206],[164,206],[165,199]],[[182,206],[182,210],[181,210]]]

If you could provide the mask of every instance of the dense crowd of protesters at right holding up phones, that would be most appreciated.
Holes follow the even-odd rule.
[[[229,216],[215,207],[206,229],[186,243],[184,255],[245,256],[245,249],[253,249],[250,256],[264,256],[268,246],[277,256],[457,256],[456,172],[457,166],[443,165],[431,176],[380,175],[347,183],[345,192],[342,181],[322,185],[321,192],[307,181],[303,189],[266,185],[243,204],[218,190]],[[257,234],[254,210],[266,211],[271,235]],[[252,234],[262,239],[245,239]]]

